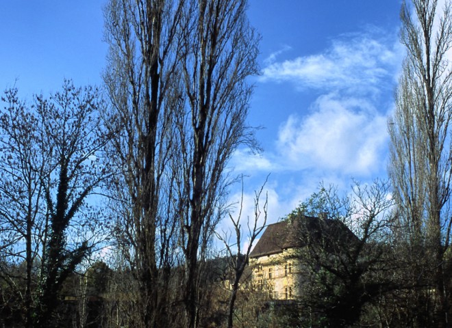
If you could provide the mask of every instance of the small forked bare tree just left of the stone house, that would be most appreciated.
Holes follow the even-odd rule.
[[[264,206],[260,207],[260,196],[264,190],[265,183],[259,189],[255,191],[254,197],[254,217],[250,220],[247,217],[247,246],[242,250],[242,210],[243,210],[243,178],[242,178],[242,197],[240,199],[240,207],[238,209],[238,214],[236,219],[228,213],[230,222],[232,223],[234,229],[234,243],[231,244],[231,236],[227,232],[223,234],[216,233],[216,236],[226,247],[227,260],[229,268],[231,269],[232,275],[232,288],[229,295],[229,303],[227,307],[227,327],[233,327],[234,321],[234,305],[236,303],[237,292],[240,287],[240,279],[247,265],[249,264],[249,254],[251,249],[253,249],[253,243],[256,238],[260,235],[262,230],[264,230],[267,221],[267,207],[268,207],[268,196],[265,198]],[[263,215],[263,217],[261,217]]]

